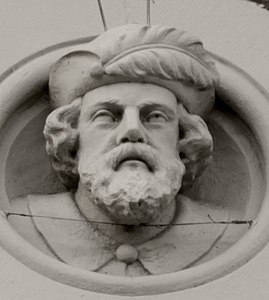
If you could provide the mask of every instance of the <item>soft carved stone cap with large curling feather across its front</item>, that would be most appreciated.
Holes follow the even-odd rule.
[[[163,25],[128,24],[104,32],[83,51],[69,53],[51,68],[54,108],[116,82],[145,82],[172,91],[193,114],[214,103],[218,71],[202,42]]]

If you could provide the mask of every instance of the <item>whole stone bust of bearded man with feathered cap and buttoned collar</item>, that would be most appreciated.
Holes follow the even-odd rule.
[[[20,211],[33,217],[14,226],[45,253],[111,275],[175,272],[223,252],[229,212],[182,195],[210,162],[203,118],[218,80],[200,40],[166,26],[118,27],[62,57],[44,135],[69,192],[29,195]]]

